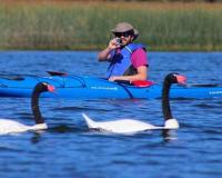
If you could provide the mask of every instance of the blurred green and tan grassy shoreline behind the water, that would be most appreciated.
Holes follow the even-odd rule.
[[[99,50],[119,21],[149,50],[222,50],[222,3],[0,2],[1,50]]]

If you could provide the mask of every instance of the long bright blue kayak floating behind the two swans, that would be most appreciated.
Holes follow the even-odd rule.
[[[1,76],[0,97],[31,97],[38,82],[48,82],[56,87],[56,92],[42,93],[49,98],[74,99],[154,99],[161,98],[162,85],[147,87],[124,82],[112,82],[89,76]],[[222,98],[222,86],[218,85],[173,85],[171,98]]]

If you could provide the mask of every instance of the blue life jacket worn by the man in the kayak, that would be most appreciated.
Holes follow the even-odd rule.
[[[139,48],[143,48],[145,50],[145,47],[141,43],[129,43],[120,49],[120,52],[118,52],[118,50],[113,50],[111,52],[111,60],[107,71],[107,78],[110,78],[111,76],[135,75],[137,69],[131,62],[131,55]]]

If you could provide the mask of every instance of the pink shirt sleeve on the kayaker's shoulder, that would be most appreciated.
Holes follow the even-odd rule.
[[[132,61],[132,65],[133,65],[134,68],[139,68],[141,66],[149,66],[147,52],[142,48],[137,49],[132,53],[131,61]]]

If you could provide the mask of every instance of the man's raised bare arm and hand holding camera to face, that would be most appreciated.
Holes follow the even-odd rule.
[[[110,52],[117,48],[120,48],[120,44],[117,42],[117,39],[112,39],[109,42],[109,46],[98,53],[98,60],[99,61],[108,61],[111,58]]]

